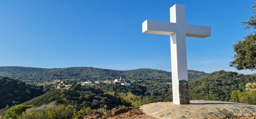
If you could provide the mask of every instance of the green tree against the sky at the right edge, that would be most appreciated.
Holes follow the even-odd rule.
[[[255,16],[250,16],[249,20],[243,21],[245,29],[256,29],[256,2],[252,6],[251,10]],[[243,37],[244,40],[238,40],[235,44],[232,44],[234,48],[234,61],[229,63],[230,67],[234,67],[237,70],[249,69],[254,71],[256,69],[256,31]]]

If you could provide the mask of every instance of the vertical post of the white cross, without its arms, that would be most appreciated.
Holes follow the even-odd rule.
[[[176,33],[170,35],[173,103],[189,104],[188,89],[186,96],[184,91],[179,91],[179,88],[182,88],[179,87],[180,80],[185,80],[181,83],[188,81],[184,5],[174,5],[170,8],[170,22],[176,23],[179,28]]]

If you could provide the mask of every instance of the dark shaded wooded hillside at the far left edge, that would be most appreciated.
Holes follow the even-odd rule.
[[[0,109],[13,106],[42,95],[42,87],[0,76]],[[8,107],[7,106],[7,107]]]

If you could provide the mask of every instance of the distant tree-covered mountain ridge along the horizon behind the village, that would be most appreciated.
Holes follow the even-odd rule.
[[[208,73],[188,70],[190,80],[200,78]],[[69,68],[33,68],[7,66],[0,67],[0,76],[6,76],[19,80],[45,81],[45,80],[111,80],[117,77],[133,80],[161,79],[171,80],[171,72],[156,69],[135,69],[135,70],[110,70],[93,67],[69,67]]]

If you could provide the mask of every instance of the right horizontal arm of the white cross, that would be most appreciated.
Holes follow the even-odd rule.
[[[186,24],[186,36],[198,38],[211,36],[211,27]]]

